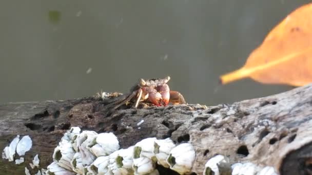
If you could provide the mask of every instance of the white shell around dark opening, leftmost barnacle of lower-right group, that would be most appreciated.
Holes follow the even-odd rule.
[[[214,175],[221,174],[221,172],[219,171],[219,166],[218,166],[220,163],[229,163],[229,159],[222,155],[217,155],[217,156],[212,157],[205,164],[205,170],[203,174],[206,174],[208,170],[213,171]]]

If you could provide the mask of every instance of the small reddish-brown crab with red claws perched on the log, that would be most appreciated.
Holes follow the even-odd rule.
[[[139,102],[150,102],[156,106],[167,106],[172,104],[185,104],[184,97],[177,91],[170,91],[167,82],[170,77],[159,79],[140,79],[139,83],[132,86],[130,94],[119,104],[114,106],[114,109],[119,106],[135,100],[134,107],[137,108]]]

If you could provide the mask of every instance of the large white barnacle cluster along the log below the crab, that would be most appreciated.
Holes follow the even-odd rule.
[[[176,146],[169,138],[147,138],[126,149],[119,148],[112,133],[81,132],[79,127],[72,127],[54,149],[53,163],[46,174],[157,175],[157,163],[188,174],[196,157],[191,144]]]

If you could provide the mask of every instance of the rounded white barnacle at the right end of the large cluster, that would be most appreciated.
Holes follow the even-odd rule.
[[[193,146],[190,143],[182,143],[170,151],[167,163],[174,171],[184,174],[190,172],[195,156],[196,152]]]

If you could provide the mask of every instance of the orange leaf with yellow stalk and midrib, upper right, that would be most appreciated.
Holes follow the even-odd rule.
[[[266,36],[245,65],[222,75],[222,84],[241,78],[302,86],[312,82],[312,4],[290,13]]]

